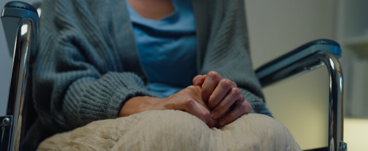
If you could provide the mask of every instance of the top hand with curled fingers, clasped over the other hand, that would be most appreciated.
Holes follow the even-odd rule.
[[[252,105],[244,98],[237,85],[228,79],[223,79],[219,73],[210,71],[206,75],[197,75],[193,79],[194,86],[202,87],[202,97],[212,109],[211,117],[218,119],[224,126],[252,113]]]

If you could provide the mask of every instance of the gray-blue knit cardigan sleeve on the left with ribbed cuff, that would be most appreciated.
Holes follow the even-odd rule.
[[[114,40],[106,35],[108,6],[102,1],[73,3],[92,1],[43,3],[32,70],[36,111],[54,132],[117,118],[124,101],[135,96],[160,97],[146,89],[139,75],[124,71]],[[95,7],[96,14],[83,12],[83,7]]]

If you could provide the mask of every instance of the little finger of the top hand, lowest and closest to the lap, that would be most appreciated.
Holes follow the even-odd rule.
[[[252,113],[253,109],[251,104],[245,100],[235,106],[235,108],[227,113],[219,122],[221,126],[229,124],[235,121],[237,118],[244,114]]]

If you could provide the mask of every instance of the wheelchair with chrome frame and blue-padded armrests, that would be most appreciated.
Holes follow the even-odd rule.
[[[22,138],[37,116],[30,99],[29,80],[32,59],[37,53],[37,24],[41,15],[41,6],[37,5],[36,8],[23,2],[9,2],[2,11],[1,19],[9,53],[13,54],[13,65],[6,115],[0,116],[0,150],[18,150]],[[266,87],[326,65],[330,78],[328,146],[311,150],[347,150],[347,144],[343,141],[343,75],[338,61],[340,57],[341,48],[337,42],[319,39],[299,46],[256,70],[262,87]]]

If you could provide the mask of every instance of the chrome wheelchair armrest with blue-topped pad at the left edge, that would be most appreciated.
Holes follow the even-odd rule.
[[[38,15],[34,11],[29,4],[10,2],[1,16],[13,65],[6,116],[0,117],[0,150],[19,149],[30,56],[37,46]]]

